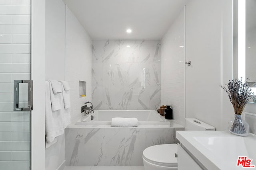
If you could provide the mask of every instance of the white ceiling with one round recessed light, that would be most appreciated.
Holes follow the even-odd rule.
[[[161,39],[187,0],[63,1],[92,39]]]

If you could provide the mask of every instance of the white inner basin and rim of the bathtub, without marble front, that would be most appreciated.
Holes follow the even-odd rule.
[[[91,117],[93,116],[93,119]],[[162,126],[170,127],[171,121],[166,120],[155,110],[97,110],[94,113],[81,118],[76,122],[76,125],[86,126],[111,126],[113,117],[136,117],[138,119],[138,126]],[[172,122],[173,124],[174,122]]]

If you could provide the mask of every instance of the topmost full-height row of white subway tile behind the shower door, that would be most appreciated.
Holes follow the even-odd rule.
[[[0,15],[30,15],[30,6],[0,6]]]

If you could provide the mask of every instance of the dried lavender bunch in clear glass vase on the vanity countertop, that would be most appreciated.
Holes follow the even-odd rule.
[[[249,125],[245,121],[242,121],[241,114],[254,93],[251,92],[252,89],[250,88],[248,79],[245,80],[244,83],[242,80],[229,80],[226,86],[228,86],[228,88],[220,85],[220,87],[228,94],[235,112],[235,119],[230,122],[232,123],[232,126],[229,131],[235,135],[247,136],[249,134]]]

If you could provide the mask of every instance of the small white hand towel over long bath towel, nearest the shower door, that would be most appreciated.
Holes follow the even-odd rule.
[[[52,105],[52,111],[59,110],[60,109],[60,98],[61,98],[60,93],[62,92],[61,84],[60,84],[60,82],[58,82],[58,84],[61,88],[61,91],[55,94],[53,91],[53,88],[52,88],[52,81],[50,81],[50,80],[47,80],[47,81],[50,83],[50,102]]]

